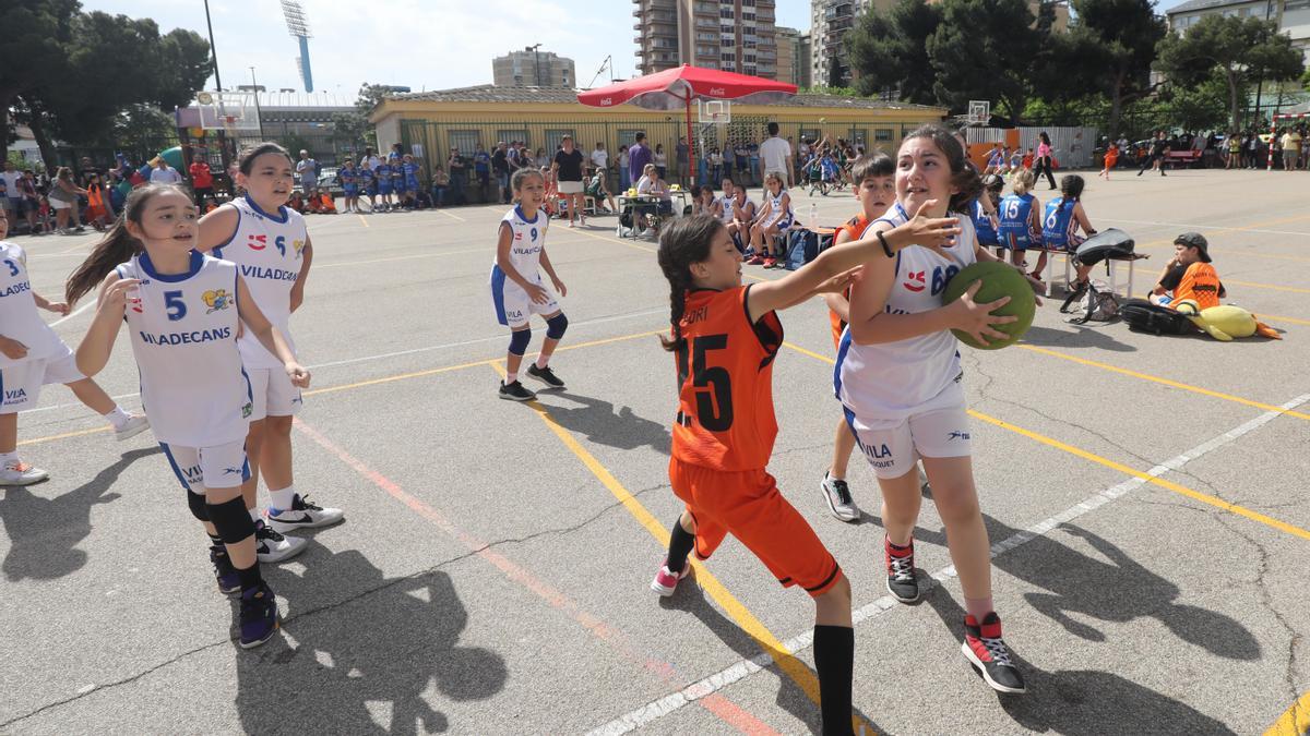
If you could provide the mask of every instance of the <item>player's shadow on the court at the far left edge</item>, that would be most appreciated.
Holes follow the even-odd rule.
[[[109,490],[123,470],[159,452],[159,445],[124,452],[90,481],[52,499],[24,486],[0,490],[0,523],[9,537],[9,554],[0,566],[5,579],[54,580],[81,570],[89,555],[77,545],[90,534],[92,507],[118,500],[119,494]]]

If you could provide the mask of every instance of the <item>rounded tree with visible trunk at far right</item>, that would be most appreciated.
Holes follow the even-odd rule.
[[[1229,92],[1229,127],[1242,127],[1241,90],[1258,79],[1293,80],[1305,71],[1301,51],[1279,33],[1276,21],[1204,16],[1187,33],[1167,34],[1157,45],[1155,69],[1178,84],[1196,84],[1216,69]]]

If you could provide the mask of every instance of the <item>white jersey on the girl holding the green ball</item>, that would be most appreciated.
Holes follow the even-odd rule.
[[[861,236],[872,236],[876,223],[903,225],[909,217],[897,203],[886,217],[874,220]],[[977,261],[973,223],[960,217],[963,230],[948,257],[912,245],[896,254],[896,280],[887,297],[888,314],[917,314],[942,306],[946,283]],[[837,352],[834,384],[837,398],[857,418],[899,422],[937,409],[930,402],[960,376],[959,340],[950,330],[903,340],[855,344],[850,327]]]

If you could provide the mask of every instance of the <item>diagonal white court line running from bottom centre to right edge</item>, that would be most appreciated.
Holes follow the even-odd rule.
[[[1301,406],[1302,403],[1306,403],[1307,401],[1310,401],[1310,394],[1302,394],[1284,403],[1281,409],[1292,410]],[[1264,424],[1268,424],[1269,422],[1277,419],[1279,416],[1281,416],[1280,411],[1265,411],[1264,414],[1256,416],[1255,419],[1251,419],[1244,424],[1241,424],[1227,432],[1224,432],[1222,435],[1218,435],[1214,439],[1201,443],[1195,448],[1184,452],[1183,454],[1179,454],[1178,457],[1161,462],[1155,468],[1148,470],[1146,474],[1153,478],[1158,478],[1171,470],[1178,470],[1179,468],[1187,465],[1188,462],[1207,453],[1210,453],[1226,444],[1235,441],[1238,437],[1248,432],[1252,432],[1263,427]],[[1047,532],[1055,529],[1060,524],[1073,521],[1074,519],[1078,519],[1079,516],[1083,516],[1102,506],[1106,506],[1127,495],[1129,491],[1140,488],[1144,485],[1146,485],[1146,479],[1133,477],[1124,481],[1123,483],[1111,486],[1103,491],[1093,494],[1091,496],[1083,499],[1081,503],[1074,504],[1061,511],[1060,513],[1056,513],[1055,516],[1038,521],[1036,524],[1028,526],[1027,529],[1017,532],[1014,536],[992,545],[992,557],[996,557],[1003,551],[1009,551],[1013,550],[1014,547],[1024,545],[1045,534]],[[934,572],[931,578],[938,583],[946,583],[951,578],[955,578],[955,566],[954,564],[947,566]],[[908,606],[899,605],[896,598],[891,596],[883,596],[852,612],[850,618],[855,626],[859,626],[862,622],[869,621],[893,608],[901,609]],[[796,636],[793,636],[791,639],[787,639],[782,644],[793,653],[800,653],[802,651],[810,648],[814,644],[814,630],[811,629]],[[659,698],[658,701],[651,701],[650,703],[637,710],[629,711],[627,714],[624,714],[620,718],[610,720],[609,723],[599,726],[588,731],[587,736],[613,736],[617,733],[627,733],[642,726],[647,726],[660,718],[664,718],[665,715],[675,712],[676,710],[681,708],[685,705],[692,703],[693,701],[697,701],[706,695],[711,695],[727,688],[728,685],[732,685],[734,682],[739,682],[747,678],[748,676],[755,674],[761,669],[765,669],[770,664],[773,664],[773,660],[768,653],[758,653],[751,659],[739,660],[736,664],[726,669],[722,669],[719,672],[715,672],[714,674],[703,680],[693,682],[692,685],[688,685],[686,688],[676,693],[671,693],[663,698]]]

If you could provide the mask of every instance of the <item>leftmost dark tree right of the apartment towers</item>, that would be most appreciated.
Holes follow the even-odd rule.
[[[862,13],[845,42],[859,93],[897,89],[907,102],[935,103],[927,39],[941,24],[941,7],[925,0],[900,0],[886,14],[872,9]]]

